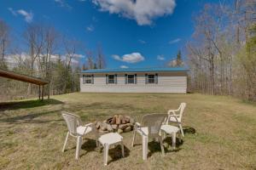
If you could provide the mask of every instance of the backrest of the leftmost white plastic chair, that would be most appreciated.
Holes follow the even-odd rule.
[[[73,135],[77,135],[77,127],[80,124],[79,116],[73,115],[66,111],[61,111],[61,115],[63,116],[65,122],[67,123],[67,128],[69,133]]]

